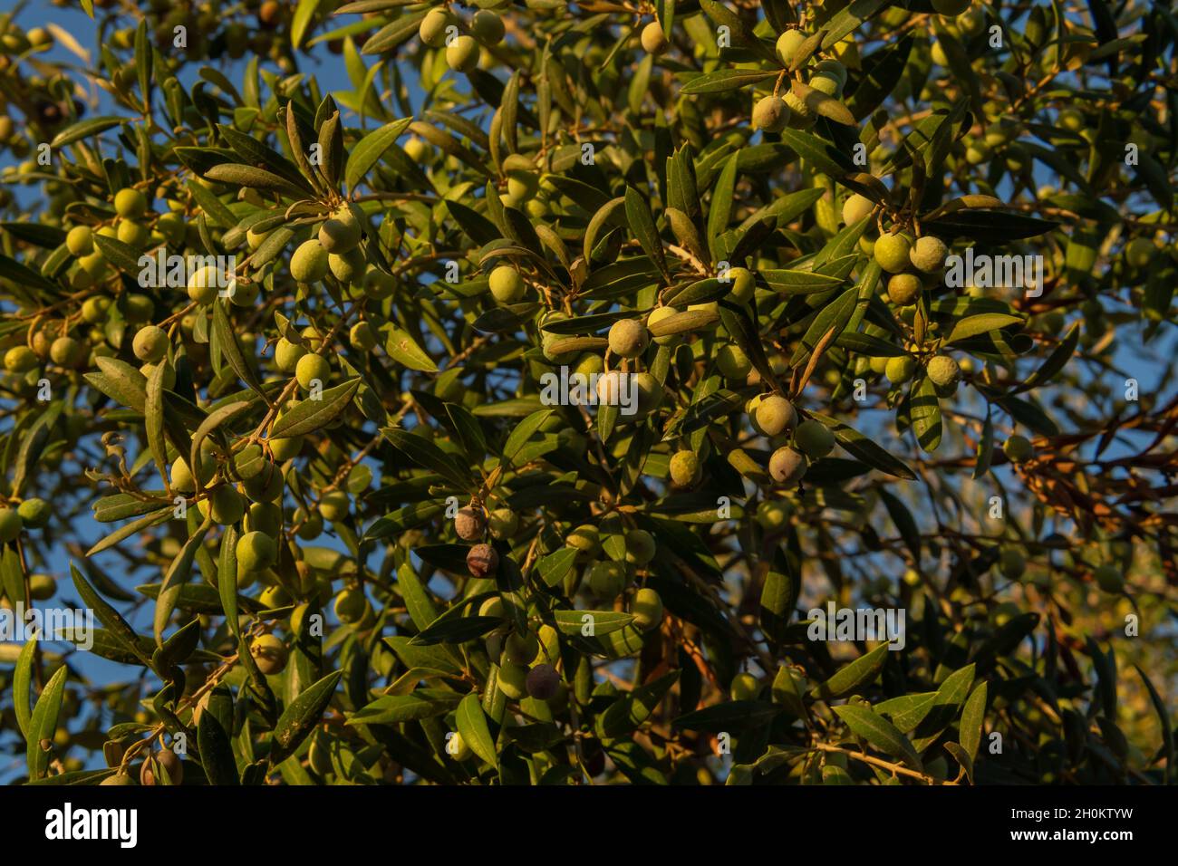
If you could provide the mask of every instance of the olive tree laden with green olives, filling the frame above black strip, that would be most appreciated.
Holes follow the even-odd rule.
[[[59,7],[7,778],[1170,781],[1166,6]]]

